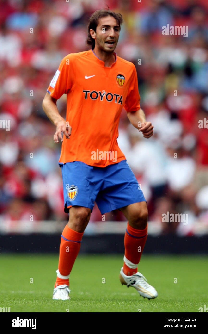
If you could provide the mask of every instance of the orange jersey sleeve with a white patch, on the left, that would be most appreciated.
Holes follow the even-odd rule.
[[[47,92],[54,99],[59,99],[63,94],[71,88],[73,83],[73,68],[70,55],[67,55],[61,60],[61,63],[55,72]]]

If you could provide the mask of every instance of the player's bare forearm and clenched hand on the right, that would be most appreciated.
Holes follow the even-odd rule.
[[[153,135],[153,125],[151,122],[147,122],[145,113],[140,108],[137,111],[127,113],[127,117],[135,128],[139,128],[139,131],[143,133],[144,138],[150,138]]]

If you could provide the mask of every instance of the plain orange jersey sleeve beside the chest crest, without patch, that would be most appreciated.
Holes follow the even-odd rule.
[[[130,78],[130,86],[126,101],[124,103],[124,109],[126,109],[127,112],[136,111],[140,109],[140,95],[139,95],[137,71],[135,65]]]

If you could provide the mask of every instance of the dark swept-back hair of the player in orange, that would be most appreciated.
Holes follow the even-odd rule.
[[[92,36],[90,35],[90,32],[89,30],[90,29],[93,29],[95,32],[96,32],[96,27],[98,25],[98,20],[100,17],[106,17],[106,16],[113,16],[117,22],[118,22],[118,25],[120,27],[120,30],[121,30],[121,25],[123,23],[123,17],[121,14],[119,13],[115,13],[113,12],[112,10],[109,10],[109,9],[99,9],[99,10],[96,10],[89,18],[89,23],[88,23],[88,27],[87,27],[87,32],[88,32],[88,35],[87,35],[87,39],[86,39],[86,44],[88,45],[91,45],[91,48],[92,50],[94,49],[95,47],[95,40],[94,38],[92,38]]]

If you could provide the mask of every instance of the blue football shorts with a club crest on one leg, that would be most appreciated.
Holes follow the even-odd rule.
[[[96,202],[101,214],[146,201],[126,160],[107,167],[80,161],[60,164],[63,178],[64,211],[74,205],[92,209]]]

